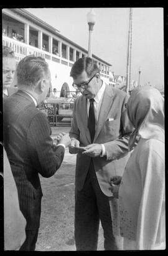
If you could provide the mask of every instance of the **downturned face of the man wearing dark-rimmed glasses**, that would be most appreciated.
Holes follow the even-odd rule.
[[[91,77],[88,77],[86,71],[83,71],[77,78],[73,79],[74,84],[82,84],[83,82],[89,81]],[[100,87],[96,81],[96,77],[91,79],[90,83],[85,87],[85,89],[79,88],[78,90],[85,96],[87,99],[92,99],[98,93]]]

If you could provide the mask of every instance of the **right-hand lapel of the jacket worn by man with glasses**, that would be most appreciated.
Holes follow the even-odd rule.
[[[101,108],[98,116],[98,122],[97,122],[95,138],[93,140],[93,143],[98,137],[98,134],[100,134],[100,130],[106,121],[106,117],[108,116],[108,112],[110,111],[110,108],[111,108],[112,99],[113,99],[113,91],[111,90],[110,86],[106,84],[106,89],[103,96],[103,101],[101,103]]]

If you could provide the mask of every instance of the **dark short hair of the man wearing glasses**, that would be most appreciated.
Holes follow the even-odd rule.
[[[96,61],[90,57],[83,57],[78,59],[72,66],[70,76],[77,78],[80,76],[80,74],[82,74],[83,71],[86,71],[88,77],[92,76],[93,74],[100,73],[100,69],[96,64]]]

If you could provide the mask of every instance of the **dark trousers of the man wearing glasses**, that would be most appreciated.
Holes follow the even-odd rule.
[[[97,250],[99,224],[105,250],[118,250],[113,235],[110,204],[98,184],[93,161],[82,190],[75,190],[75,244],[77,250]]]

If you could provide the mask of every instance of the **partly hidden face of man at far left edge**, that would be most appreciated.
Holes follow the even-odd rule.
[[[14,72],[16,71],[16,60],[10,57],[3,57],[2,59],[2,79],[3,89],[11,86],[14,79]]]

